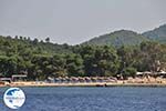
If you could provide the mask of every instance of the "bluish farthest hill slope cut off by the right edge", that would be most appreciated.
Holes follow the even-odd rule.
[[[154,30],[144,32],[143,36],[151,40],[166,43],[166,24],[160,26],[159,28],[156,28]]]

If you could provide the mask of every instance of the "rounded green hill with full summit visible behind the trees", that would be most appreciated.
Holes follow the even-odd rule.
[[[122,46],[136,46],[143,41],[148,41],[148,39],[134,31],[120,30],[91,39],[90,41],[84,42],[83,44],[97,44],[97,46],[108,44],[114,47],[122,47]]]

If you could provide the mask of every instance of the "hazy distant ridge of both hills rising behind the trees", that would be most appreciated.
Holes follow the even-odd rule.
[[[94,46],[136,46],[143,41],[157,41],[166,43],[166,24],[160,26],[152,31],[144,33],[137,33],[131,30],[118,30],[100,37],[95,37],[82,44],[94,44]]]

